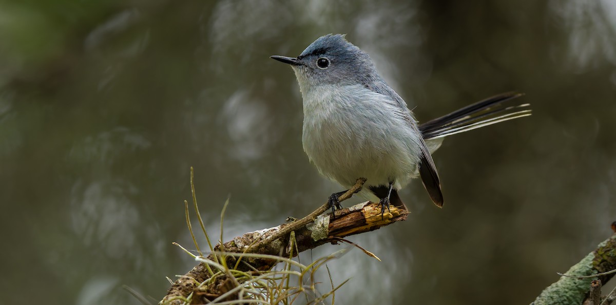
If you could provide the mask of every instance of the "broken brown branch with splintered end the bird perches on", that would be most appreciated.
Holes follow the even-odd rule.
[[[359,192],[364,182],[365,179],[358,179],[354,187],[344,193],[339,200],[346,200],[353,193]],[[336,218],[331,219],[331,214],[321,215],[328,208],[328,205],[325,204],[298,221],[281,224],[269,229],[248,232],[225,242],[223,245],[216,245],[214,251],[224,250],[225,252],[232,253],[251,252],[286,257],[292,253],[293,256],[296,256],[302,251],[316,248],[324,243],[337,243],[341,238],[349,235],[369,232],[396,221],[404,221],[407,219],[408,214],[408,211],[403,209],[402,206],[391,206],[388,211],[381,215],[381,206],[378,203],[367,201],[350,208],[339,209],[336,211]],[[291,251],[289,246],[291,232],[295,232],[294,246],[296,246],[296,251]],[[214,253],[209,254],[208,259],[214,260]],[[225,259],[227,260],[227,266],[235,265],[236,258],[233,256],[225,256]],[[244,258],[242,261],[246,262],[246,264],[238,264],[237,270],[245,272],[255,269],[270,270],[277,263],[275,259]],[[173,283],[161,303],[182,304],[184,302],[182,298],[187,298],[188,295],[195,292],[198,285],[208,278],[209,272],[206,265],[200,263]],[[224,285],[220,287],[224,287]],[[209,295],[222,295],[224,291],[208,291],[208,293]],[[195,297],[203,295],[205,294],[193,294],[193,302],[202,301],[206,303],[206,299],[195,299]]]

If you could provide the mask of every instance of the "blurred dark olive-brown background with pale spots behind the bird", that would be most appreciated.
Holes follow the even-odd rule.
[[[123,285],[161,299],[195,265],[171,245],[194,248],[190,166],[214,239],[228,197],[225,240],[341,190],[302,151],[293,71],[268,58],[327,33],[367,51],[419,121],[512,90],[533,108],[445,140],[445,207],[411,182],[407,221],[350,238],[383,262],[328,264],[351,278],[336,303],[528,304],[612,234],[615,1],[0,4],[7,304],[139,304]]]

